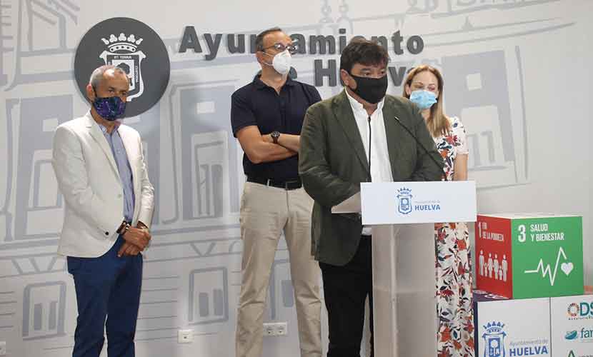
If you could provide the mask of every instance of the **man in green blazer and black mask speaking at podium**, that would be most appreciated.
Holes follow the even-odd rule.
[[[332,206],[361,182],[439,181],[443,172],[417,106],[386,95],[388,61],[382,46],[351,41],[340,58],[344,91],[309,107],[302,127],[299,175],[315,201],[312,253],[322,269],[328,357],[359,356],[367,296],[372,311],[371,228]]]

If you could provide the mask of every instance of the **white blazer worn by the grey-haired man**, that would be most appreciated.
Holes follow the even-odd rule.
[[[152,187],[142,151],[140,134],[121,124],[133,178],[135,206],[132,225],[150,227],[154,209]],[[64,196],[64,226],[58,253],[95,258],[114,245],[124,220],[124,191],[111,147],[91,112],[61,124],[54,135],[52,165]]]

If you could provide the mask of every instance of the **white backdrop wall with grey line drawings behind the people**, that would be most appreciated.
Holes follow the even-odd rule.
[[[146,253],[136,346],[139,356],[234,356],[241,281],[241,149],[229,123],[230,94],[259,66],[221,45],[206,61],[203,34],[404,36],[424,39],[420,54],[390,66],[428,63],[445,76],[447,114],[469,137],[469,172],[479,211],[583,216],[585,281],[593,281],[589,101],[593,34],[589,0],[426,1],[81,1],[0,0],[0,341],[8,356],[67,356],[76,300],[64,258],[56,256],[63,200],[49,159],[54,128],[88,104],[74,81],[74,52],[94,24],[126,16],[164,40],[171,80],[159,104],[126,119],[144,139],[157,195]],[[185,26],[204,53],[179,54]],[[113,30],[114,33],[118,31]],[[106,34],[109,36],[109,34]],[[249,46],[248,46],[249,48]],[[314,81],[314,59],[295,59]],[[396,81],[397,84],[397,81]],[[319,88],[327,98],[341,87]],[[389,85],[390,94],[402,88]],[[286,246],[280,243],[266,321],[289,335],[264,340],[264,356],[299,356]],[[194,342],[178,344],[179,328]],[[325,333],[325,332],[324,332]]]

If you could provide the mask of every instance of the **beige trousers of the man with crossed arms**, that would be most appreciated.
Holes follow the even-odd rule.
[[[243,274],[236,324],[236,357],[261,357],[266,295],[282,231],[289,251],[301,356],[322,356],[321,273],[311,255],[312,207],[313,199],[303,188],[284,190],[245,183],[241,196]]]

